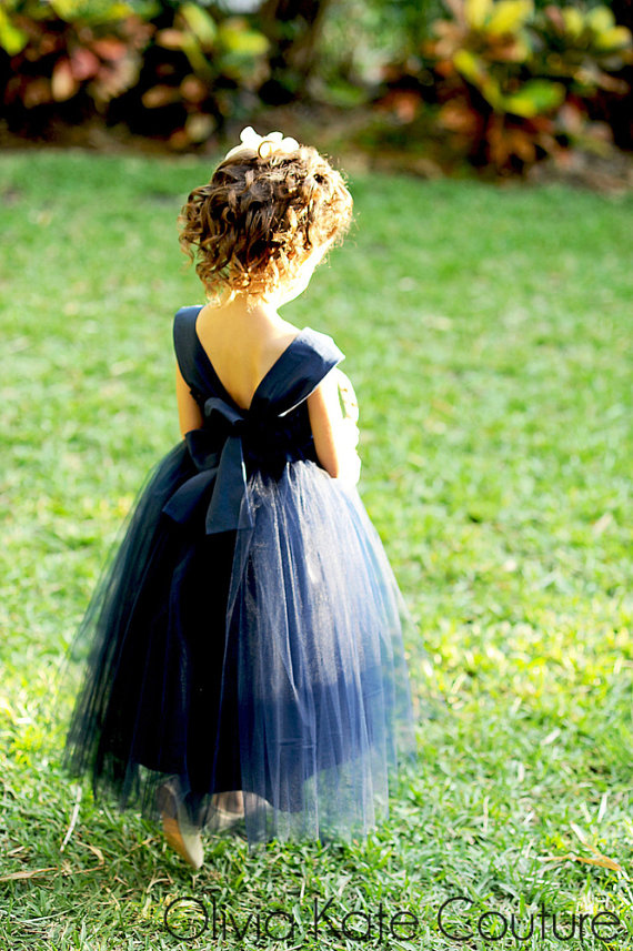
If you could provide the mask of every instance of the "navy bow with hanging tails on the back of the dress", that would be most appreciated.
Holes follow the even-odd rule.
[[[211,396],[204,403],[204,417],[210,427],[190,429],[184,436],[199,472],[187,479],[162,508],[175,522],[187,522],[197,508],[201,494],[208,486],[213,486],[204,524],[207,535],[253,525],[242,446],[242,436],[250,422],[245,413],[217,396]],[[220,418],[217,421],[214,417]],[[212,448],[218,445],[217,422],[228,429],[219,449]]]

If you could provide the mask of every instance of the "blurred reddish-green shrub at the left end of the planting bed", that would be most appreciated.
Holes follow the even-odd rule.
[[[208,3],[3,0],[2,114],[28,135],[99,114],[187,148],[248,104],[268,50],[247,18]]]

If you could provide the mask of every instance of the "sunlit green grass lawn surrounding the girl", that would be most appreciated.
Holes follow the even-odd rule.
[[[361,495],[415,621],[420,755],[390,821],[350,847],[208,837],[192,873],[86,785],[61,850],[79,787],[60,769],[72,695],[56,672],[180,439],[172,316],[203,297],[175,216],[209,173],[0,159],[1,951],[473,949],[500,915],[508,934],[485,947],[506,948],[510,915],[526,933],[543,907],[520,947],[630,947],[632,196],[359,176],[358,226],[283,311],[346,354]],[[187,896],[215,902],[215,933],[191,937],[194,906],[168,918],[181,939],[167,930]],[[444,929],[469,940],[439,924],[459,897]],[[366,940],[361,914],[335,933],[348,912],[371,915]],[[575,913],[573,940],[554,913],[562,935]]]

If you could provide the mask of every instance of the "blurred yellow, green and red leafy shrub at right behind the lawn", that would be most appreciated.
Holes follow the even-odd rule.
[[[521,172],[570,145],[607,146],[612,132],[589,118],[596,91],[625,95],[613,75],[633,62],[629,29],[605,6],[535,9],[533,0],[446,0],[450,19],[432,24],[418,57],[386,70],[382,98],[403,122],[423,102],[455,155],[498,172]]]

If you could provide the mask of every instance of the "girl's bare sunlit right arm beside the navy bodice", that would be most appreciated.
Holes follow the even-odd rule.
[[[319,462],[332,478],[341,478],[355,485],[361,467],[355,451],[359,429],[355,418],[351,415],[343,416],[341,411],[341,372],[334,368],[321,381],[308,397],[308,412]],[[351,389],[346,377],[342,380]]]

